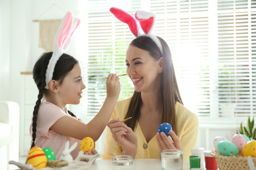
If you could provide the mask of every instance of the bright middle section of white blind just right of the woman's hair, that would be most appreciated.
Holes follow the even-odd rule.
[[[210,112],[207,1],[151,1],[154,33],[169,44],[182,101],[198,115]]]

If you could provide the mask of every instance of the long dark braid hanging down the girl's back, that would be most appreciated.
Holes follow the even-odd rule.
[[[45,93],[45,80],[43,80],[44,83],[38,84],[37,88],[39,89],[39,94],[37,95],[37,101],[35,103],[35,107],[33,108],[33,123],[32,123],[32,145],[35,146],[35,137],[36,137],[36,127],[37,127],[37,114],[39,110],[39,106],[41,104],[41,99],[43,99],[43,93]],[[41,86],[41,87],[40,87]]]

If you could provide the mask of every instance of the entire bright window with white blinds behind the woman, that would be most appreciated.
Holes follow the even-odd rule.
[[[154,35],[165,39],[185,107],[198,116],[256,114],[256,3],[244,0],[88,1],[87,51],[83,74],[87,89],[79,110],[94,116],[106,98],[110,72],[126,72],[125,53],[134,39],[126,24],[110,12],[119,7],[156,13]],[[133,84],[120,77],[119,99]]]

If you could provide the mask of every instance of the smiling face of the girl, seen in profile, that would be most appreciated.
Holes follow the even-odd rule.
[[[81,67],[77,63],[58,87],[58,95],[64,105],[79,104],[83,89],[85,89],[85,84],[81,77]]]

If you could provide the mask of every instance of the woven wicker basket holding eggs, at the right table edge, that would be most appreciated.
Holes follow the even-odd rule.
[[[249,170],[249,164],[247,161],[247,157],[242,156],[223,156],[216,150],[212,150],[210,152],[211,156],[213,156],[219,167],[219,170]],[[256,157],[251,158],[253,160],[254,165],[256,165]]]

